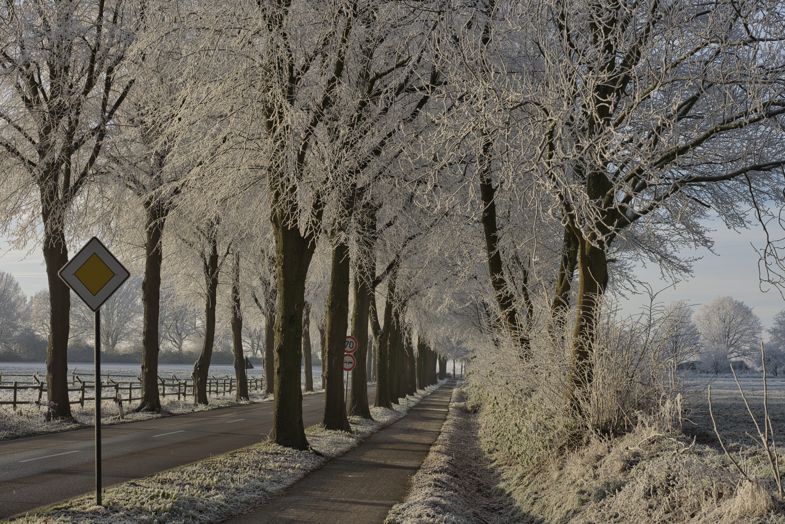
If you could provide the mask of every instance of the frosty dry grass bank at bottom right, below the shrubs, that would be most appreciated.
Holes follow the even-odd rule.
[[[714,391],[712,397],[715,405]],[[728,392],[728,405],[735,405],[730,398]],[[557,427],[549,427],[550,422],[544,420],[545,410],[538,412],[528,406],[532,417],[522,423],[514,420],[516,417],[500,416],[501,409],[505,405],[480,408],[480,435],[487,457],[500,475],[498,488],[513,497],[520,515],[528,519],[524,522],[785,522],[785,505],[776,497],[776,483],[760,448],[738,444],[731,448],[750,482],[725,453],[714,445],[694,442],[666,423],[664,413],[641,413],[637,426],[625,434],[594,436],[565,447],[558,440],[545,442]],[[542,418],[538,420],[538,416]],[[724,434],[722,428],[728,422],[719,419],[716,412],[715,417]],[[527,434],[517,438],[514,449],[520,455],[513,456],[499,442],[503,435],[509,437],[513,428],[521,431],[521,426]],[[782,428],[775,428],[780,445],[785,438]],[[535,442],[537,439],[542,442]],[[780,470],[783,465],[780,457]]]

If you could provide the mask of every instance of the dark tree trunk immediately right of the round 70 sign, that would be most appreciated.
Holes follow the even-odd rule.
[[[367,264],[363,263],[363,256],[354,273],[354,311],[352,312],[352,336],[357,339],[357,349],[354,352],[356,366],[352,370],[352,390],[349,392],[349,415],[361,416],[363,419],[372,419],[371,409],[368,406],[368,309],[371,304],[370,275],[367,273]]]

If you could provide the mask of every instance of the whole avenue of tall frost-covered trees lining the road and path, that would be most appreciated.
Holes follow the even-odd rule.
[[[411,385],[415,354],[490,341],[525,368],[569,347],[565,409],[580,417],[603,297],[635,285],[630,262],[688,273],[674,253],[710,246],[699,222],[710,211],[741,227],[746,208],[765,222],[758,203],[783,203],[776,3],[16,0],[0,10],[3,232],[44,251],[57,417],[70,416],[71,313],[57,270],[93,233],[144,266],[141,409],[159,409],[166,273],[203,307],[197,400],[219,302],[238,376],[243,312],[256,306],[272,438],[305,449],[306,311],[324,326],[330,429],[349,427],[347,332],[358,373],[374,340],[382,406]],[[369,416],[356,378],[350,411]]]

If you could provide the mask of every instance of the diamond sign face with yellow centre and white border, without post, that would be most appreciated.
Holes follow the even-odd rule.
[[[60,278],[93,311],[97,311],[128,277],[128,270],[95,236],[60,269]]]

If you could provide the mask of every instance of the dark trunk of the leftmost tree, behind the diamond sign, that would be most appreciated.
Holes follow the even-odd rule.
[[[45,208],[46,209],[46,208]],[[62,229],[44,214],[43,255],[49,281],[49,340],[46,344],[47,420],[71,420],[68,399],[68,332],[71,317],[71,290],[58,272],[68,263],[68,247]]]

